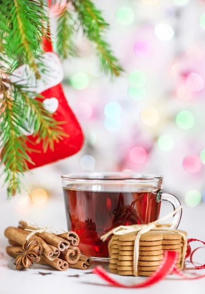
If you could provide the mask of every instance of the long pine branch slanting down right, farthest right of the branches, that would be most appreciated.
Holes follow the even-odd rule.
[[[78,20],[84,34],[96,46],[102,69],[106,74],[119,76],[123,69],[103,37],[109,25],[102,17],[101,11],[95,7],[91,0],[73,0],[72,3],[78,13]]]

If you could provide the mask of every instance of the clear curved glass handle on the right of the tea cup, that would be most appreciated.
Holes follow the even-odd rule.
[[[168,202],[170,202],[172,204],[174,210],[181,206],[181,202],[176,196],[174,196],[172,194],[169,194],[169,193],[164,193],[161,190],[158,193],[157,199],[159,199],[158,201],[168,201]],[[173,215],[172,223],[175,225],[174,229],[178,228],[178,226],[180,224],[180,221],[181,221],[181,218],[182,218],[182,208],[179,209]]]

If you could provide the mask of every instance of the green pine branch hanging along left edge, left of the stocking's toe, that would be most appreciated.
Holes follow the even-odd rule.
[[[10,97],[3,84],[1,90],[0,138],[1,147],[4,147],[1,162],[5,165],[5,183],[10,197],[21,191],[23,173],[28,171],[27,162],[32,162],[27,154],[30,149],[26,146],[26,137],[22,131],[27,130],[23,123],[22,106]]]

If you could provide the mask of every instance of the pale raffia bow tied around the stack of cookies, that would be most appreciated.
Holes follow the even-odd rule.
[[[138,232],[138,234],[136,235],[135,246],[134,246],[134,275],[137,276],[137,266],[138,266],[138,258],[139,258],[139,239],[140,239],[141,235],[144,233],[147,233],[151,230],[163,230],[163,231],[175,232],[175,233],[180,234],[183,238],[183,249],[182,249],[182,266],[183,266],[183,263],[185,260],[185,255],[186,255],[186,248],[187,248],[186,236],[180,231],[177,231],[175,229],[171,229],[170,226],[173,225],[172,223],[159,224],[160,221],[164,221],[164,220],[169,219],[180,209],[182,209],[182,206],[180,206],[179,208],[174,210],[172,213],[166,215],[165,217],[163,217],[157,221],[150,222],[148,224],[133,224],[133,225],[127,225],[127,226],[120,225],[120,226],[112,229],[108,233],[104,234],[103,236],[101,236],[100,239],[102,241],[105,241],[112,234],[125,235],[125,234],[129,234],[129,233]],[[109,253],[111,250],[111,244],[112,244],[112,239],[110,240],[110,242],[108,244]]]

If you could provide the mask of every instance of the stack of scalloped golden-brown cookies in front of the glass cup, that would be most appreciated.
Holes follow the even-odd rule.
[[[182,231],[181,231],[182,232]],[[186,235],[185,232],[182,232]],[[125,235],[114,235],[110,243],[110,264],[112,273],[133,275],[134,245],[137,232]],[[172,231],[149,231],[142,234],[139,240],[139,258],[137,274],[149,276],[159,267],[163,260],[163,250],[178,251],[177,267],[182,268],[183,238]]]

